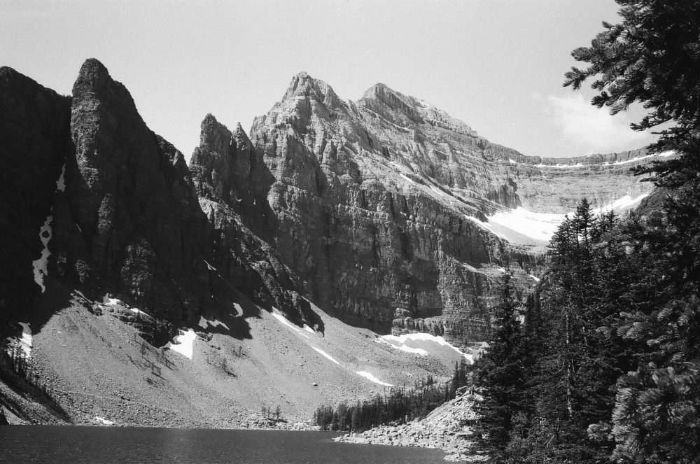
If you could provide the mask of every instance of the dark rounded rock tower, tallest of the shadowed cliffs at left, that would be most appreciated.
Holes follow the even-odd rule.
[[[188,321],[207,304],[211,253],[183,156],[141,119],[126,88],[88,59],[73,85],[55,271],[92,295]]]

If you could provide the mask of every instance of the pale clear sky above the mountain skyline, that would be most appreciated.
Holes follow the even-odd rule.
[[[641,108],[610,116],[562,87],[612,0],[0,0],[0,66],[71,94],[99,59],[186,157],[207,113],[246,131],[300,71],[357,100],[375,83],[419,97],[489,141],[570,157],[645,146]],[[580,66],[583,64],[579,64]]]

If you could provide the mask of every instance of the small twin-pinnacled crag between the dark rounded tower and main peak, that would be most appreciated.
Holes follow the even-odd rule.
[[[261,307],[279,309],[295,323],[323,332],[323,322],[297,292],[297,277],[265,241],[276,224],[267,203],[274,177],[243,129],[232,133],[207,115],[190,169],[202,211],[214,227],[209,267],[220,290],[228,289],[229,300],[235,300],[230,291],[235,288]]]

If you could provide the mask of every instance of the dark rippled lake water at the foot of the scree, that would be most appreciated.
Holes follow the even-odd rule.
[[[0,427],[0,463],[430,464],[434,449],[336,443],[337,433],[281,430]]]

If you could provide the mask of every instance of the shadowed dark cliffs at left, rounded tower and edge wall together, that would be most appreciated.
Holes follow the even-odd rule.
[[[144,335],[158,344],[202,315],[228,315],[241,295],[314,323],[279,262],[267,276],[274,253],[239,219],[223,234],[226,211],[205,214],[183,155],[146,127],[101,63],[83,64],[72,97],[8,68],[0,75],[0,125],[11,129],[2,144],[2,260],[11,270],[1,318],[41,326],[75,289],[148,309],[162,324]],[[225,248],[229,236],[243,246]],[[245,337],[247,324],[237,321]]]

